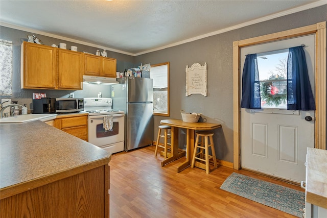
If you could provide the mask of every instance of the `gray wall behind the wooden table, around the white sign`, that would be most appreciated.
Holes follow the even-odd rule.
[[[207,122],[220,123],[215,130],[217,158],[233,162],[233,41],[313,25],[327,20],[327,6],[275,18],[238,30],[170,47],[135,58],[136,63],[170,62],[170,118],[181,118],[180,110],[202,113]],[[219,22],[219,21],[218,21]],[[185,67],[207,63],[207,97],[185,96]],[[154,117],[154,138],[164,116]],[[184,132],[180,132],[184,138]],[[183,143],[183,142],[181,142]],[[179,144],[180,147],[183,144]]]

